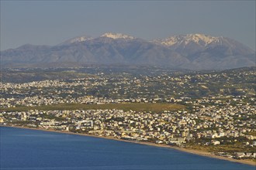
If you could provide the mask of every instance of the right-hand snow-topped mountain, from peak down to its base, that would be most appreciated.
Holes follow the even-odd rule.
[[[190,61],[184,65],[188,69],[228,69],[255,65],[254,50],[222,36],[188,34],[155,39],[152,42],[185,56]]]

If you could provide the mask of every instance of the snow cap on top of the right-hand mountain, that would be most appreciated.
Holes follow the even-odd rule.
[[[207,36],[204,34],[187,34],[180,36],[171,36],[167,39],[157,39],[153,42],[161,43],[164,46],[173,46],[173,45],[187,45],[189,42],[195,42],[199,46],[207,46],[212,42],[219,42],[222,37]]]

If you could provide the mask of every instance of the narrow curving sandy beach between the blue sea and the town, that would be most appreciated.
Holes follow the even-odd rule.
[[[225,158],[222,156],[213,155],[210,152],[206,152],[206,151],[198,151],[198,150],[189,149],[189,148],[179,148],[179,147],[165,145],[165,144],[154,144],[154,143],[151,143],[148,141],[128,141],[128,140],[123,140],[123,139],[118,139],[118,138],[96,136],[93,134],[81,134],[81,133],[73,133],[70,131],[56,131],[56,130],[50,130],[50,129],[28,128],[28,127],[21,127],[21,126],[0,125],[0,127],[22,128],[22,129],[29,129],[29,130],[36,130],[36,131],[49,131],[49,132],[56,132],[56,133],[61,133],[61,134],[74,134],[74,135],[88,136],[88,137],[93,137],[93,138],[105,138],[105,139],[110,139],[110,140],[114,140],[114,141],[124,141],[124,142],[130,142],[130,143],[134,143],[134,144],[148,145],[148,146],[154,146],[154,147],[160,147],[160,148],[171,148],[171,149],[175,149],[177,151],[184,151],[186,153],[190,153],[190,154],[194,154],[194,155],[201,155],[201,156],[206,156],[209,158],[217,158],[217,159],[222,159],[222,160],[226,160],[229,162],[237,162],[237,163],[246,164],[246,165],[253,165],[256,167],[256,162],[253,162],[251,160]]]

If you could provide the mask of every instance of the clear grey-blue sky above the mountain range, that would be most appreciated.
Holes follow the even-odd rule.
[[[255,50],[255,0],[0,0],[0,50],[54,46],[76,36],[118,32],[141,39],[203,33]]]

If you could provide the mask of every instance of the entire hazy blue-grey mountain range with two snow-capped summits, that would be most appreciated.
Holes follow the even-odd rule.
[[[1,52],[4,67],[104,65],[220,70],[255,66],[255,51],[234,39],[189,34],[146,41],[120,33],[79,36],[57,46],[24,45]]]

